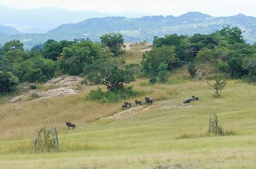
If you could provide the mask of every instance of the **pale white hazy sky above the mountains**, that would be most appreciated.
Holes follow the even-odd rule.
[[[0,0],[0,5],[18,9],[59,7],[73,11],[92,10],[104,13],[136,11],[174,16],[189,11],[198,11],[212,16],[243,13],[256,17],[255,0]]]

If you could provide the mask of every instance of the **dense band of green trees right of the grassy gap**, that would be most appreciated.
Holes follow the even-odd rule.
[[[226,77],[256,81],[256,44],[246,44],[238,27],[225,26],[212,34],[154,37],[153,49],[143,56],[143,71],[166,81],[168,72],[188,64],[194,76],[198,69],[211,69]],[[163,78],[165,77],[165,78]]]

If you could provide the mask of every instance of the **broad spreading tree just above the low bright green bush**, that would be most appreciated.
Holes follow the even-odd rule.
[[[104,85],[109,90],[117,90],[124,83],[130,83],[135,78],[136,65],[125,66],[124,61],[112,59],[98,59],[85,68],[86,79],[96,85]]]

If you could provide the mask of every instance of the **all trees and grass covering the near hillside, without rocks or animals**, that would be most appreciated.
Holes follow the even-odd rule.
[[[256,46],[245,43],[241,29],[155,36],[152,49],[143,41],[126,51],[121,34],[102,37],[101,43],[48,40],[30,51],[18,40],[5,44],[0,99],[16,89],[22,94],[22,86],[55,88],[44,82],[57,75],[83,80],[78,94],[1,101],[0,168],[256,167]],[[208,84],[220,80],[224,89],[214,93]],[[183,103],[191,96],[199,100]],[[131,108],[122,110],[124,101]],[[209,132],[215,115],[222,135]],[[59,149],[35,153],[36,130],[51,126]]]

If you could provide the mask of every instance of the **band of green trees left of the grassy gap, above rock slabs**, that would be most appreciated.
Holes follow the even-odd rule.
[[[124,82],[134,80],[130,76],[132,66],[123,67],[124,61],[114,59],[124,47],[122,35],[109,33],[101,39],[101,43],[94,43],[90,39],[59,42],[49,39],[45,44],[34,46],[29,51],[23,49],[21,41],[9,41],[0,48],[0,93],[13,91],[18,83],[23,82],[34,83],[32,88],[36,88],[36,82],[46,82],[63,74],[89,75],[88,83],[103,84],[110,89],[119,88]],[[101,70],[96,71],[96,68]],[[111,77],[102,75],[106,72]]]

